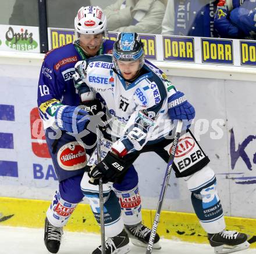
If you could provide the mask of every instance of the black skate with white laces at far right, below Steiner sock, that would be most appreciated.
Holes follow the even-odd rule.
[[[237,231],[223,230],[221,233],[208,234],[208,240],[216,254],[242,251],[250,246],[247,235]]]

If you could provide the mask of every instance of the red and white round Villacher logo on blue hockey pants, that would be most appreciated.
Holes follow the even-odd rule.
[[[65,170],[77,170],[87,164],[86,151],[77,141],[62,146],[57,154],[58,164]]]

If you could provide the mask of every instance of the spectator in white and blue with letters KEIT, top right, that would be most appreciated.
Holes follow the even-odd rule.
[[[215,37],[214,13],[218,0],[169,0],[162,34]]]

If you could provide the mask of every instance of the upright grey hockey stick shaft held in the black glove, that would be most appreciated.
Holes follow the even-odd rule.
[[[99,131],[99,126],[96,127],[97,133],[97,161],[101,161],[101,132]],[[101,222],[101,253],[106,253],[105,246],[105,227],[104,227],[104,197],[103,197],[103,186],[102,177],[99,178],[99,209],[100,209],[100,222]]]

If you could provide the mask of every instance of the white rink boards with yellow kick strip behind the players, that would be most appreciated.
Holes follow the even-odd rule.
[[[26,61],[20,56],[14,58],[15,63],[5,63],[9,61],[6,58],[0,63],[0,196],[9,197],[0,199],[0,225],[42,227],[48,201],[58,188],[38,119],[36,100],[41,63],[34,63],[35,59],[31,56]],[[224,214],[232,216],[227,218],[227,228],[254,236],[256,78],[250,81],[240,75],[236,80],[243,72],[241,69],[249,71],[248,67],[226,71],[226,76],[229,76],[226,78],[220,77],[218,66],[218,72],[202,69],[201,75],[198,75],[193,64],[187,68],[190,71],[179,70],[178,67],[165,71],[173,85],[182,90],[195,106],[196,117],[191,130],[211,159],[209,165],[216,173]],[[177,75],[181,70],[184,73]],[[210,72],[214,72],[216,78],[209,76]],[[255,68],[251,76],[255,77]],[[166,164],[154,153],[147,153],[141,155],[134,166],[139,177],[142,207],[148,209],[143,211],[145,224],[150,226]],[[204,231],[193,215],[190,195],[186,183],[175,178],[172,172],[163,203],[166,212],[162,213],[158,231],[166,238],[207,242]],[[74,212],[67,229],[99,230],[88,205],[83,204]]]

